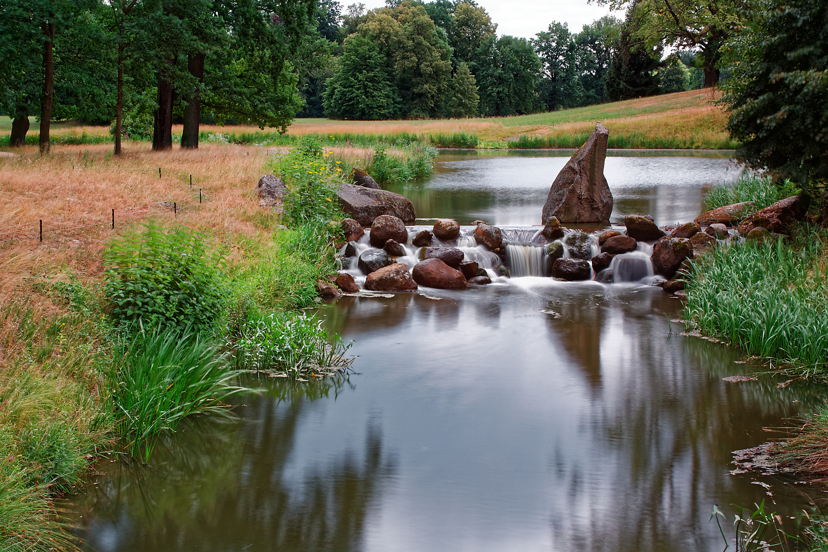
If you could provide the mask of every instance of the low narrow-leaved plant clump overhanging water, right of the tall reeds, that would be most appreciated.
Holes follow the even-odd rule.
[[[267,314],[248,321],[236,343],[236,365],[304,378],[348,367],[349,345],[306,314]]]

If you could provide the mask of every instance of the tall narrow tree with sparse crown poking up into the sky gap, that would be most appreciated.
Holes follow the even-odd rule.
[[[537,33],[532,46],[541,60],[541,101],[550,111],[580,105],[583,89],[578,82],[577,46],[566,23],[551,22]]]

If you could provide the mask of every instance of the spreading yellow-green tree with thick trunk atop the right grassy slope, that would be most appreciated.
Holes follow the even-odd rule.
[[[598,0],[627,7],[636,19],[634,38],[657,45],[700,50],[705,88],[719,83],[720,47],[744,26],[750,0]]]

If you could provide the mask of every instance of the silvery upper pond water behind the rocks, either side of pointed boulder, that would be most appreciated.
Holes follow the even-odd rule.
[[[648,154],[657,153],[653,157]],[[676,152],[674,152],[676,153]],[[443,151],[424,183],[389,187],[412,200],[420,217],[475,219],[498,225],[541,223],[549,187],[570,150]],[[614,197],[610,219],[650,214],[659,224],[687,222],[710,185],[734,182],[741,168],[718,152],[663,156],[663,151],[610,151],[604,175]]]

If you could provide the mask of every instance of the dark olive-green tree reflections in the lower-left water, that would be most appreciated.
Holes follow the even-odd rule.
[[[347,376],[297,385],[264,378],[235,420],[203,417],[159,441],[151,463],[104,460],[67,505],[93,550],[362,550],[365,522],[396,463],[369,424],[362,455],[304,466],[287,478],[311,402]],[[276,380],[276,381],[274,381]],[[255,384],[255,382],[249,382]],[[360,458],[362,456],[362,458]]]

